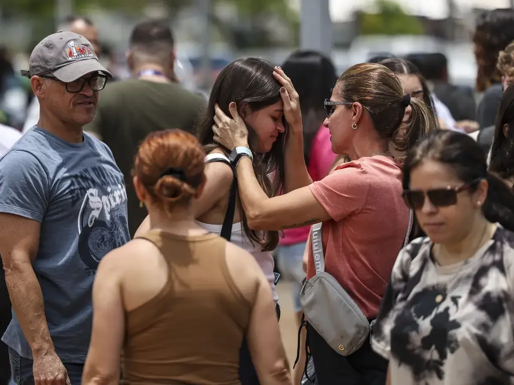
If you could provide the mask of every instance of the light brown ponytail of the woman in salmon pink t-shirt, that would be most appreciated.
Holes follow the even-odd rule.
[[[394,148],[400,152],[409,151],[419,138],[437,128],[434,114],[423,101],[412,98],[409,105],[412,109],[411,117],[405,125],[400,120],[392,141]]]

